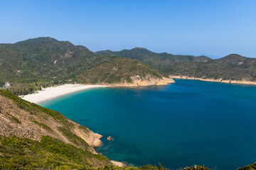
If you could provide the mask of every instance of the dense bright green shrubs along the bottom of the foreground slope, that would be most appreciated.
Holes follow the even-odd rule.
[[[41,142],[0,136],[0,153],[0,169],[88,169],[108,162],[100,154],[48,136],[43,136]]]

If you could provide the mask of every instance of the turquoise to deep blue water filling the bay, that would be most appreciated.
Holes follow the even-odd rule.
[[[104,135],[97,151],[113,160],[237,169],[256,162],[255,104],[256,86],[176,79],[168,86],[90,89],[41,106]]]

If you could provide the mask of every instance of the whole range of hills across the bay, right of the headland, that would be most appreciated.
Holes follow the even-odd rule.
[[[236,54],[217,60],[205,56],[193,57],[191,55],[155,53],[144,48],[119,52],[106,50],[96,52],[96,54],[111,54],[141,60],[164,72],[164,74],[172,76],[256,81],[256,59]]]

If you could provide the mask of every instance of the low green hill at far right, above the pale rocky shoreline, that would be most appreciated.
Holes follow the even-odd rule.
[[[204,79],[256,81],[256,59],[234,54],[209,62],[172,63],[164,72]]]

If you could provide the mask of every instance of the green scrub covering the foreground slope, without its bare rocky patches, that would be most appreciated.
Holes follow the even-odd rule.
[[[110,165],[110,161],[106,157],[100,154],[93,154],[92,147],[90,147],[85,140],[82,140],[74,134],[73,128],[75,128],[76,124],[68,120],[68,118],[65,118],[64,115],[34,103],[23,101],[23,99],[7,91],[0,90],[0,96],[9,98],[13,102],[12,105],[3,105],[0,103],[1,107],[4,106],[4,108],[0,107],[0,114],[4,114],[3,116],[1,115],[1,118],[11,121],[8,126],[4,126],[5,128],[7,127],[6,130],[11,131],[15,129],[13,135],[18,134],[17,132],[20,130],[18,126],[26,123],[26,126],[30,126],[30,133],[33,135],[33,128],[35,128],[33,123],[36,123],[39,125],[39,128],[45,129],[48,132],[47,134],[51,136],[42,136],[41,142],[38,142],[36,140],[21,139],[15,136],[4,137],[0,135],[0,169],[14,169],[14,167],[17,169],[55,169],[57,167],[84,169],[85,167],[95,168]],[[1,102],[6,103],[7,101],[1,100]],[[6,112],[4,112],[6,106],[14,110],[11,112],[12,114],[6,114]],[[18,118],[14,116],[14,113],[20,112],[16,109],[16,106],[22,109],[23,116],[31,117],[32,120],[30,124],[25,122],[25,120],[18,120]],[[29,112],[31,116],[26,115],[26,112]],[[16,115],[18,115],[18,113]],[[53,120],[50,120],[48,116],[53,118]],[[39,123],[33,120],[34,118],[38,118],[37,120],[46,119],[46,122],[50,122],[50,124]],[[55,123],[55,121],[57,122],[55,125],[58,127],[51,125]],[[81,125],[79,127],[85,130],[85,133],[87,132],[87,128]],[[1,128],[3,128],[3,126],[1,126]],[[53,131],[53,128],[57,128],[59,131]],[[21,132],[21,135],[22,134],[23,132]],[[55,138],[59,137],[59,135],[63,135],[65,139],[68,139],[68,143],[72,145]]]

